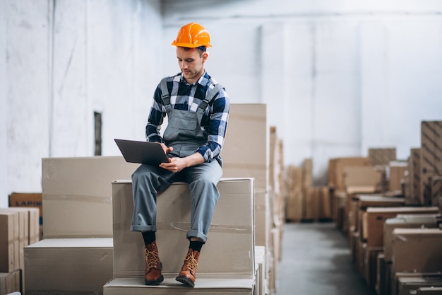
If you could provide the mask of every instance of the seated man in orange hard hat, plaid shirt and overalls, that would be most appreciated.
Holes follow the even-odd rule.
[[[191,221],[187,231],[189,250],[177,281],[194,287],[201,248],[219,197],[222,176],[220,152],[227,129],[229,98],[225,88],[204,69],[210,35],[198,23],[184,25],[172,42],[177,47],[181,73],[162,79],[145,127],[148,141],[160,142],[168,163],[141,165],[132,175],[133,219],[131,231],[141,231],[145,243],[145,284],[163,281],[162,264],[155,242],[156,195],[175,181],[189,183]],[[167,114],[163,136],[160,126]]]

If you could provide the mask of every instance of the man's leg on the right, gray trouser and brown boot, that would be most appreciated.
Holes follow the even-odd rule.
[[[220,197],[217,183],[222,176],[222,169],[217,161],[187,169],[186,182],[191,190],[191,229],[187,232],[190,244],[177,281],[194,287],[198,258],[203,244],[207,241],[215,206]]]

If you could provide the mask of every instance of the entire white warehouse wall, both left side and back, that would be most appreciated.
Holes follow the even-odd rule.
[[[144,138],[153,91],[179,71],[181,25],[210,30],[206,68],[232,103],[267,103],[285,163],[420,145],[442,120],[442,2],[0,0],[0,207],[41,190],[41,158],[103,155]]]

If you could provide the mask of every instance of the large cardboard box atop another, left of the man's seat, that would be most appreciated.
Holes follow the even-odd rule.
[[[102,294],[112,279],[112,181],[136,168],[121,156],[43,158],[43,239],[25,247],[28,294]]]

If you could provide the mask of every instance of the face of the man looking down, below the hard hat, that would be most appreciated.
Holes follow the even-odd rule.
[[[185,50],[183,47],[177,47],[179,68],[187,83],[195,83],[204,74],[204,63],[207,57],[207,52],[200,56],[200,51],[196,48]]]

